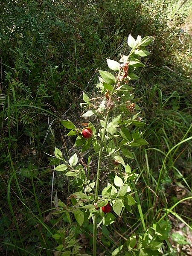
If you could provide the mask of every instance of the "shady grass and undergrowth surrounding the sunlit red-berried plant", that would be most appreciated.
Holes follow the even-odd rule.
[[[66,246],[91,255],[91,225],[82,234],[51,215],[52,183],[53,196],[57,191],[66,200],[73,187],[57,174],[52,180],[48,154],[55,145],[70,146],[59,119],[82,122],[82,91],[96,96],[97,69],[106,68],[105,58],[116,60],[126,52],[130,33],[155,36],[141,80],[132,84],[149,123],[150,146],[137,149],[132,163],[140,170],[137,189],[146,225],[161,218],[164,208],[172,209],[163,253],[192,253],[192,152],[186,140],[192,136],[191,18],[190,1],[1,1],[2,255],[53,255],[58,244],[52,235],[61,228]],[[140,232],[138,219],[136,209],[126,225],[103,228],[98,255],[111,255],[132,232]]]

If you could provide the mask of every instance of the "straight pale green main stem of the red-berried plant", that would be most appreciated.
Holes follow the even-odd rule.
[[[101,173],[101,160],[102,160],[102,153],[103,153],[103,142],[105,140],[105,131],[108,124],[108,118],[109,118],[109,108],[108,112],[105,117],[105,123],[103,128],[103,134],[102,134],[102,140],[99,150],[99,158],[98,158],[98,165],[97,165],[97,178],[96,178],[96,188],[95,188],[95,201],[98,197],[99,192],[99,179],[100,179],[100,173]],[[95,214],[93,218],[93,256],[96,256],[96,238],[97,238],[97,215]]]

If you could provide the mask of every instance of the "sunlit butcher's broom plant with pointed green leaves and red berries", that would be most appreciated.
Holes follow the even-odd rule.
[[[54,214],[60,214],[60,219],[67,219],[70,224],[76,223],[81,230],[87,222],[93,223],[93,256],[98,255],[99,228],[113,224],[125,212],[133,214],[131,207],[136,203],[143,236],[133,235],[112,255],[117,255],[120,250],[124,250],[125,255],[137,255],[145,250],[158,255],[162,245],[157,240],[160,227],[150,231],[145,227],[135,186],[139,174],[137,169],[131,169],[134,162],[132,149],[148,145],[148,142],[143,136],[146,127],[144,113],[137,104],[139,99],[134,98],[130,81],[139,79],[137,68],[145,66],[140,59],[150,55],[146,47],[153,40],[151,36],[141,38],[140,35],[135,40],[129,35],[129,54],[123,55],[119,62],[107,59],[110,72],[99,70],[99,83],[96,84],[99,93],[92,98],[83,93],[81,126],[69,119],[61,120],[65,131],[68,130],[65,136],[75,137],[74,145],[70,151],[65,147],[65,152],[55,147],[50,164],[56,166],[56,172],[67,176],[73,189],[75,184],[75,192],[68,195],[66,202],[55,197]],[[59,243],[56,250],[64,252],[61,255],[79,253],[79,247],[70,249],[62,242],[62,237],[61,231],[54,235]]]

